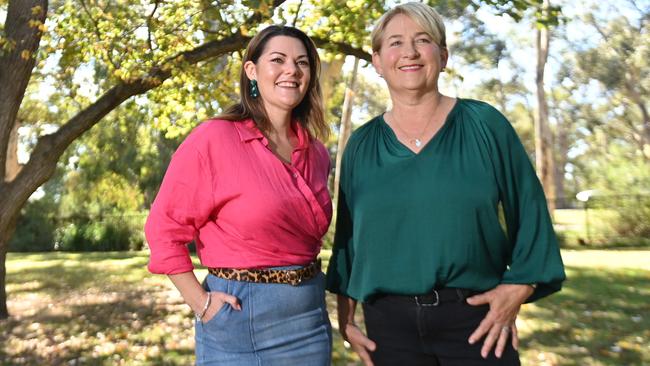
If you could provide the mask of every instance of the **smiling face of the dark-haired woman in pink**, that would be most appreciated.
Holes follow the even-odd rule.
[[[257,80],[269,115],[291,112],[300,104],[309,88],[310,67],[303,43],[289,36],[269,39],[257,62],[244,65],[246,76]]]

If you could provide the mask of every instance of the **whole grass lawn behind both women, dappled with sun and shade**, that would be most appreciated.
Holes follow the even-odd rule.
[[[563,258],[564,290],[519,316],[523,364],[649,365],[650,250]],[[144,252],[10,253],[0,365],[192,364],[190,310],[146,263]],[[358,364],[336,332],[334,342],[335,365]]]

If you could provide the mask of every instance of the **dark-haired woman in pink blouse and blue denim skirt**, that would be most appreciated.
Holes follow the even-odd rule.
[[[145,225],[149,270],[196,314],[199,365],[329,365],[331,327],[316,259],[332,215],[320,60],[302,31],[249,43],[241,101],[178,148]],[[209,274],[193,272],[196,243]]]

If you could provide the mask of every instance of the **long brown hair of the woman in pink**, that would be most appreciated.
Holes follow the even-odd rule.
[[[307,129],[312,136],[325,141],[329,137],[330,130],[328,124],[325,122],[323,97],[318,80],[318,76],[320,75],[320,57],[318,56],[316,45],[314,45],[311,38],[294,27],[271,25],[264,28],[251,39],[248,47],[246,47],[239,76],[239,95],[241,101],[229,107],[224,113],[215,118],[229,121],[252,118],[255,124],[257,124],[257,127],[262,131],[267,131],[271,127],[271,121],[264,109],[261,98],[253,98],[250,95],[250,79],[246,76],[244,65],[247,61],[257,63],[268,41],[277,36],[296,38],[302,42],[307,50],[310,76],[309,86],[307,87],[305,97],[291,112],[291,117]]]

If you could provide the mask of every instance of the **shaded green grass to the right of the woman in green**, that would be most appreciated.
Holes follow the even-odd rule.
[[[524,350],[550,350],[561,365],[650,362],[650,272],[568,267],[562,292],[528,307]],[[597,360],[597,362],[594,362]]]

